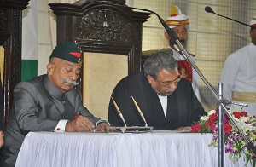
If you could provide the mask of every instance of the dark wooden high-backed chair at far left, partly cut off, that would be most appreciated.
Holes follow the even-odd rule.
[[[29,0],[0,0],[0,55],[3,77],[3,107],[0,130],[7,124],[13,101],[13,90],[20,82],[22,10]]]

